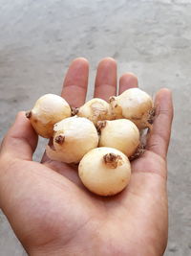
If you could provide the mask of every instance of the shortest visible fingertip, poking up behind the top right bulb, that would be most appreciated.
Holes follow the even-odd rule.
[[[132,73],[125,73],[120,77],[118,94],[123,91],[138,87],[138,78]]]

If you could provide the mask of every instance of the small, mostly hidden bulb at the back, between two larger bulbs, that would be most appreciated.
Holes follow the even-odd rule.
[[[111,106],[104,100],[95,98],[79,107],[77,115],[91,120],[95,126],[98,121],[113,119]]]

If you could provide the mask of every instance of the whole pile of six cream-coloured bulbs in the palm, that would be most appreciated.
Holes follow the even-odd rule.
[[[131,164],[140,145],[140,130],[149,128],[153,101],[138,88],[72,108],[63,98],[46,94],[26,113],[37,134],[53,137],[46,153],[52,160],[79,163],[78,175],[91,192],[116,195],[129,183]]]

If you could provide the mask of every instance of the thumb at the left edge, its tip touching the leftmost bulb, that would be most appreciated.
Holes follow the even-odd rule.
[[[1,145],[1,154],[10,154],[13,158],[32,160],[37,146],[37,134],[25,112],[19,112],[16,120]]]

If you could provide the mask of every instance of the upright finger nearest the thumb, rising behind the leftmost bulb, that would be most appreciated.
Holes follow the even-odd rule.
[[[61,96],[72,106],[83,105],[88,86],[89,63],[86,58],[75,58],[71,63]]]

